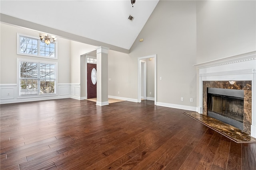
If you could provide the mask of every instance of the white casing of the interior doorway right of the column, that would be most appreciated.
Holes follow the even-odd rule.
[[[143,59],[154,59],[154,104],[156,105],[156,54],[149,55],[145,57],[138,57],[138,103],[141,102],[142,90],[144,91],[144,83],[142,83],[142,76],[144,75],[144,69],[142,71],[142,60]],[[144,67],[144,64],[143,64]],[[147,66],[146,66],[147,67]],[[143,85],[142,85],[143,84]],[[143,87],[142,87],[143,86]],[[146,98],[147,98],[147,91],[146,91]]]

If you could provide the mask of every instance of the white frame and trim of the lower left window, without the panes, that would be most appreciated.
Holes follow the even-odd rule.
[[[20,94],[20,62],[31,62],[31,63],[38,63],[38,94]],[[44,64],[54,64],[55,65],[55,70],[54,70],[54,76],[55,76],[55,81],[54,81],[54,93],[49,93],[49,94],[40,94],[40,63]],[[42,61],[42,60],[31,60],[31,59],[22,59],[22,58],[17,58],[17,88],[18,88],[18,98],[34,98],[34,97],[44,97],[44,96],[58,96],[58,63],[57,62],[49,62],[49,61]]]

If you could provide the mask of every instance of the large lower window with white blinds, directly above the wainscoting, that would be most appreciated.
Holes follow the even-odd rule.
[[[56,94],[56,63],[19,60],[20,96]]]

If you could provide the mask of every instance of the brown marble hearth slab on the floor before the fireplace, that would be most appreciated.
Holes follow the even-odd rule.
[[[229,139],[235,141],[236,143],[256,143],[256,139],[251,137],[248,133],[241,131],[240,129],[223,123],[212,117],[199,114],[197,112],[183,112],[186,115],[192,117],[193,119],[201,122],[202,124],[210,127],[211,129],[217,131],[218,133],[228,137]]]

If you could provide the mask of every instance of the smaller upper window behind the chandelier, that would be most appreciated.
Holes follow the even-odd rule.
[[[37,37],[21,35],[17,33],[18,55],[30,55],[35,57],[57,59],[56,45],[56,42],[54,44],[47,45],[46,43],[42,43],[41,40]]]

